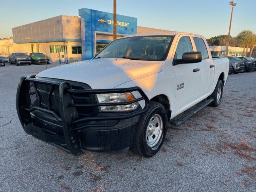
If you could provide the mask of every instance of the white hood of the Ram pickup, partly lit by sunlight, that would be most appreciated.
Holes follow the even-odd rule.
[[[83,82],[92,89],[114,88],[128,81],[158,73],[160,61],[100,58],[66,64],[42,71],[36,77]]]

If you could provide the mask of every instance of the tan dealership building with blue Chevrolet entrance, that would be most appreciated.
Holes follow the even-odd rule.
[[[42,52],[58,63],[91,59],[113,40],[113,14],[79,9],[79,16],[56,16],[12,29],[13,52]],[[167,32],[137,26],[137,18],[117,15],[117,37],[145,32]]]

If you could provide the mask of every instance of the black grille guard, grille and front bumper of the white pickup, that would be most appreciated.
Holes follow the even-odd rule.
[[[42,88],[38,84],[50,86],[49,94],[42,95]],[[22,77],[16,95],[16,109],[20,122],[27,134],[31,134],[44,142],[57,146],[72,153],[82,154],[82,149],[96,152],[126,152],[132,144],[136,124],[140,114],[148,108],[148,98],[138,88],[127,89],[74,89],[71,82],[42,80],[34,77]],[[53,91],[58,87],[58,92]],[[131,112],[100,113],[100,106],[120,105],[120,103],[92,103],[76,104],[76,96],[90,97],[99,93],[139,92],[140,98],[132,102],[145,101],[144,108],[137,108]],[[59,98],[57,95],[59,94]],[[34,95],[34,103],[28,97]],[[53,98],[54,97],[54,98]],[[51,102],[59,101],[60,113],[56,112]],[[47,105],[43,105],[47,103]],[[29,105],[28,105],[29,103]],[[78,107],[93,108],[88,116],[81,116]]]

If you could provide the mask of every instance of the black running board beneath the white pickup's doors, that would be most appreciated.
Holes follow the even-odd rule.
[[[204,107],[208,106],[211,102],[213,102],[214,99],[210,98],[208,100],[205,100],[204,102],[200,103],[196,108],[191,110],[190,112],[182,115],[176,120],[170,121],[170,124],[173,124],[175,126],[180,126],[182,123],[184,123],[186,120],[188,120],[190,117],[192,117],[194,114],[198,113],[200,110],[202,110]]]

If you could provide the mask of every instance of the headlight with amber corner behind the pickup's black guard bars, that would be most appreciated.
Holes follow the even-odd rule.
[[[134,96],[130,93],[109,93],[109,94],[97,94],[99,103],[124,103],[135,100]],[[138,102],[134,102],[128,105],[113,105],[113,106],[101,106],[102,111],[130,111],[139,106]]]

